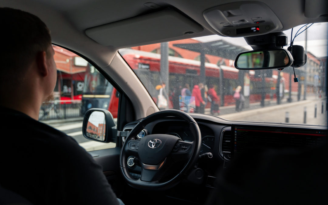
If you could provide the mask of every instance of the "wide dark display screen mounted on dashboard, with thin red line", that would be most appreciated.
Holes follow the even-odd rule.
[[[324,143],[327,130],[232,125],[232,157],[254,149],[307,148]]]

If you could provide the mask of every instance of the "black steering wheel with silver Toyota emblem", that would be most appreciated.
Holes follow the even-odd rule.
[[[147,124],[163,117],[174,116],[186,121],[192,133],[192,142],[182,141],[170,134],[149,134],[136,138]],[[201,134],[198,124],[189,114],[179,110],[163,110],[142,119],[125,139],[120,153],[120,169],[127,183],[137,189],[166,190],[177,183],[195,165],[201,146]],[[129,174],[127,159],[135,156],[134,161],[141,167],[139,179]],[[163,176],[174,166],[183,165],[181,171],[163,180]]]

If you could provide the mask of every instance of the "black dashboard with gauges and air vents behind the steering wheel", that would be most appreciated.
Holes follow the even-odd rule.
[[[256,123],[227,121],[218,117],[190,114],[197,122],[201,132],[201,151],[197,169],[203,173],[202,185],[213,187],[218,170],[228,166],[232,160],[247,152],[267,149],[285,149],[320,146],[327,141],[327,127],[311,125],[293,125],[278,123]],[[124,127],[129,132],[137,122]],[[185,142],[192,141],[192,133],[186,122],[165,117],[149,123],[137,138],[147,134],[170,134]],[[124,137],[122,141],[124,143]],[[207,153],[211,153],[209,157]],[[134,178],[140,176],[141,169],[129,161],[129,172]]]

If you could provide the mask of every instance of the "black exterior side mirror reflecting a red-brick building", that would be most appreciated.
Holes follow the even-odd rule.
[[[116,142],[116,124],[113,115],[105,109],[92,108],[83,119],[83,136],[98,142]]]

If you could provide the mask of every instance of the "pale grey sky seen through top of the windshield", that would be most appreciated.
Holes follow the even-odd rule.
[[[293,29],[293,37],[295,36],[297,30],[301,28],[303,25],[297,26]],[[300,31],[303,31],[305,27],[303,27]],[[300,32],[299,31],[299,32]],[[291,29],[287,31],[283,31],[288,36],[288,44],[291,40]],[[250,46],[247,45],[244,38],[230,38],[230,37],[223,37],[219,35],[211,35],[211,36],[204,36],[195,38],[201,42],[209,42],[215,40],[225,40],[232,44],[242,46],[246,49],[252,50]],[[328,55],[327,53],[327,46],[328,46],[328,23],[316,23],[313,24],[311,27],[307,29],[307,51],[310,51],[317,57],[325,57]],[[294,45],[301,45],[305,47],[305,31],[298,35],[294,40]],[[287,47],[285,47],[287,49]],[[305,48],[304,48],[305,49]]]

